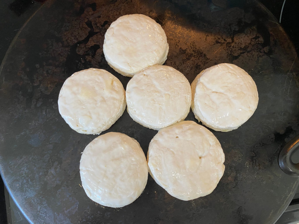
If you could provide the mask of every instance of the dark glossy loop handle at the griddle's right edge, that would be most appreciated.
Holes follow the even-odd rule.
[[[281,150],[278,158],[279,166],[286,174],[299,177],[299,163],[292,162],[292,155],[299,149],[299,136],[289,141]]]

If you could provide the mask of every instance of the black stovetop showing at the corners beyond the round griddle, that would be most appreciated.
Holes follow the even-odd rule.
[[[0,7],[0,61],[3,60],[5,52],[13,41],[14,36],[18,33],[22,25],[30,16],[40,7],[45,0],[3,0]],[[297,54],[299,54],[299,1],[286,0],[281,14],[284,0],[260,0],[273,14],[280,20],[281,25],[289,35],[295,45]],[[14,202],[7,193],[4,197],[5,187],[0,179],[0,224],[1,223],[28,223],[22,213],[18,211]],[[6,204],[5,204],[6,203]],[[295,222],[297,220],[298,222]],[[277,224],[299,223],[299,189]]]

